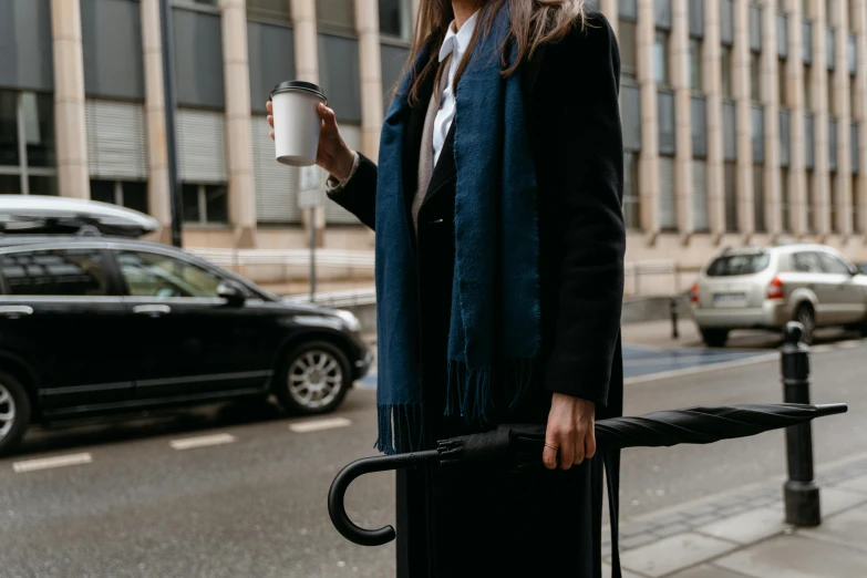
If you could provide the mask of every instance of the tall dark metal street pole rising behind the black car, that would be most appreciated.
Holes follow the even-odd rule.
[[[166,116],[166,155],[168,157],[168,195],[172,204],[172,245],[183,245],[184,204],[177,178],[177,141],[175,131],[175,43],[169,0],[159,0],[159,39],[163,44],[163,97]]]

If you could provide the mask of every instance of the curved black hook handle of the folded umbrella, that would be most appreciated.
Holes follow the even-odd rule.
[[[357,460],[340,471],[331,483],[331,489],[328,491],[328,515],[331,517],[331,524],[349,541],[359,546],[382,546],[394,539],[396,534],[392,526],[369,530],[355,526],[347,515],[347,508],[343,498],[347,495],[349,485],[357,477],[373,472],[386,472],[389,469],[399,469],[401,467],[411,467],[414,465],[430,464],[440,461],[440,452],[431,450],[427,452],[415,452],[412,454],[382,455],[376,457],[365,457]]]

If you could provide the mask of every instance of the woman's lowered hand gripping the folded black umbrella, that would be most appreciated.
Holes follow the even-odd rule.
[[[571,395],[555,393],[551,411],[548,413],[548,429],[545,433],[545,450],[541,461],[545,467],[557,467],[559,452],[560,469],[569,469],[596,454],[596,404]]]

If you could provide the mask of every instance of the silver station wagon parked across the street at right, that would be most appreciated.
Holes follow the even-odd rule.
[[[692,286],[695,322],[708,345],[723,347],[733,329],[778,331],[804,324],[867,329],[867,275],[822,245],[726,249]]]

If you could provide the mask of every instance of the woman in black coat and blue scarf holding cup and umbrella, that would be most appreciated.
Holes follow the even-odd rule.
[[[329,195],[376,230],[376,447],[547,422],[547,469],[399,477],[412,578],[601,576],[594,421],[622,405],[620,63],[581,4],[421,0],[379,167],[319,110]]]

